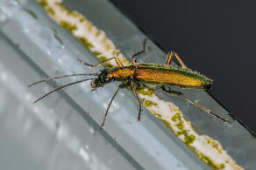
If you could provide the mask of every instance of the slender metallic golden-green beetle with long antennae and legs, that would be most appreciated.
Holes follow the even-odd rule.
[[[104,114],[103,123],[101,124],[101,127],[104,126],[105,120],[107,118],[107,114],[110,109],[110,105],[112,104],[112,101],[117,96],[117,92],[119,92],[120,89],[129,87],[129,86],[132,87],[132,91],[134,92],[134,95],[139,103],[138,120],[140,120],[141,102],[139,100],[138,92],[137,92],[138,85],[139,86],[159,85],[164,92],[167,92],[172,95],[182,96],[185,99],[188,99],[190,102],[192,102],[194,105],[196,105],[198,108],[200,108],[204,112],[207,112],[210,115],[216,117],[217,119],[221,119],[226,123],[230,123],[228,119],[224,119],[218,116],[216,113],[210,112],[209,109],[207,109],[203,105],[198,104],[195,100],[188,98],[188,96],[186,96],[182,92],[171,91],[166,89],[166,85],[174,85],[181,88],[195,88],[195,89],[209,90],[212,85],[212,80],[210,78],[207,78],[206,76],[204,76],[203,74],[197,71],[192,71],[188,69],[188,67],[183,64],[183,62],[181,61],[181,58],[174,51],[171,51],[168,53],[166,65],[154,64],[154,63],[137,63],[136,57],[138,57],[139,55],[145,52],[146,52],[146,39],[143,42],[143,50],[135,53],[132,56],[132,65],[124,66],[117,57],[106,59],[96,65],[89,65],[88,63],[85,63],[84,61],[78,59],[78,61],[83,65],[87,65],[93,68],[96,68],[112,59],[115,59],[117,63],[117,67],[104,68],[100,73],[70,74],[70,75],[64,75],[60,77],[46,78],[38,82],[35,82],[32,85],[36,85],[38,83],[46,82],[56,78],[65,78],[65,77],[71,77],[71,76],[96,76],[96,78],[85,78],[85,79],[70,83],[68,85],[60,86],[59,88],[46,93],[44,96],[34,101],[34,103],[38,102],[40,99],[43,99],[49,94],[56,92],[64,87],[82,83],[84,81],[92,80],[90,84],[92,87],[92,91],[96,90],[99,87],[103,87],[104,85],[109,84],[111,82],[120,81],[122,83],[117,87],[117,91],[114,93],[112,99],[110,99],[110,103]],[[179,66],[171,65],[172,58],[176,58],[178,60]],[[29,85],[29,87],[32,85]]]

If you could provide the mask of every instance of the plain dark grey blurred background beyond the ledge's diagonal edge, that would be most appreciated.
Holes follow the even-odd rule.
[[[192,70],[214,79],[211,94],[256,132],[256,1],[111,0]]]

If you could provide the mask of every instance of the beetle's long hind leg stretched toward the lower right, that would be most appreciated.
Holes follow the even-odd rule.
[[[164,85],[160,86],[160,88],[161,88],[164,92],[167,92],[168,94],[172,94],[172,95],[175,95],[175,96],[182,96],[183,98],[188,99],[188,101],[190,101],[191,103],[193,103],[194,105],[196,105],[197,108],[203,110],[204,112],[207,112],[208,114],[210,114],[211,116],[214,116],[214,117],[217,118],[217,119],[223,120],[225,123],[231,123],[230,120],[224,119],[224,118],[218,116],[216,113],[210,112],[210,110],[209,110],[208,108],[204,107],[203,105],[198,104],[195,100],[188,98],[188,96],[186,96],[186,95],[183,94],[182,92],[171,91],[170,89],[167,90]]]

